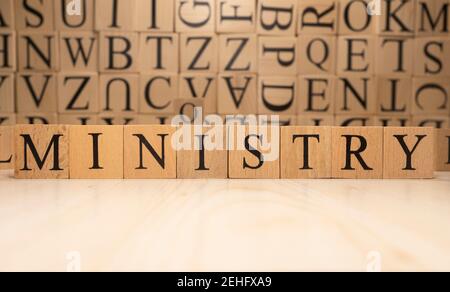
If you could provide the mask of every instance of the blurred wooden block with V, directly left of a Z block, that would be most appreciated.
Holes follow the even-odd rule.
[[[58,111],[55,73],[17,74],[17,111],[19,113],[55,113]]]

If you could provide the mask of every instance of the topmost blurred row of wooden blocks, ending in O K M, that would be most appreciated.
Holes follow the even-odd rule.
[[[2,0],[0,28],[448,34],[448,0]]]

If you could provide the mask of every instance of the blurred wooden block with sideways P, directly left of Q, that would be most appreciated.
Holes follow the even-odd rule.
[[[297,75],[297,39],[294,37],[260,37],[259,73]]]

